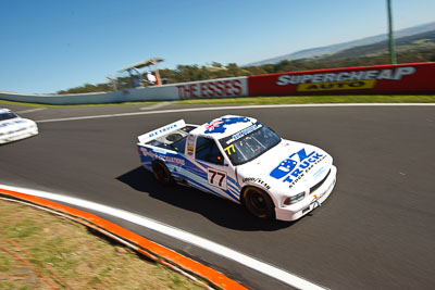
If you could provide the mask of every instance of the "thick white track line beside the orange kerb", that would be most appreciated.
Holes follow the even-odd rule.
[[[140,225],[142,227],[156,230],[160,234],[170,236],[174,239],[178,239],[184,242],[194,244],[198,248],[201,248],[201,249],[204,249],[214,254],[224,256],[228,260],[233,260],[239,264],[243,264],[244,266],[252,268],[259,273],[262,273],[264,275],[273,277],[279,281],[285,282],[286,285],[289,285],[289,286],[298,288],[298,289],[310,289],[310,290],[311,289],[315,289],[315,290],[316,289],[319,289],[319,290],[325,289],[325,288],[323,288],[319,285],[315,285],[313,282],[310,282],[299,276],[296,276],[295,274],[288,273],[284,269],[281,269],[273,265],[270,265],[268,263],[261,262],[254,257],[248,256],[244,253],[237,252],[227,247],[221,245],[216,242],[195,236],[190,232],[187,232],[182,229],[178,229],[178,228],[165,225],[163,223],[150,219],[148,217],[144,217],[144,216],[140,216],[137,214],[133,214],[133,213],[129,213],[129,212],[126,212],[123,210],[117,210],[117,209],[107,206],[103,204],[99,204],[99,203],[95,203],[91,201],[80,200],[77,198],[72,198],[72,197],[46,192],[46,191],[25,189],[25,188],[18,188],[18,187],[5,186],[5,185],[0,185],[0,188],[5,189],[5,190],[15,191],[15,192],[26,193],[26,194],[30,194],[30,196],[52,200],[52,201],[60,201],[60,202],[73,204],[73,205],[76,205],[76,206],[79,206],[83,209],[88,209],[91,211],[97,211],[97,212],[100,212],[103,214],[109,214],[109,215],[122,218],[129,223],[134,223],[136,225]]]

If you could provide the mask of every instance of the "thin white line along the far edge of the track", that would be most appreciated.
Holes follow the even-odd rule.
[[[36,123],[51,123],[51,122],[64,122],[64,121],[79,121],[79,119],[104,118],[104,117],[124,117],[124,116],[152,115],[152,114],[167,114],[167,113],[179,113],[179,112],[199,112],[199,111],[219,111],[219,110],[243,110],[243,109],[324,108],[324,106],[434,106],[434,105],[435,105],[435,103],[353,103],[353,104],[264,104],[264,105],[228,105],[228,106],[213,106],[213,108],[190,108],[190,109],[175,109],[175,110],[162,110],[162,111],[150,111],[150,112],[120,113],[120,114],[107,114],[107,115],[80,116],[80,117],[50,118],[50,119],[40,119],[40,121],[36,121]]]

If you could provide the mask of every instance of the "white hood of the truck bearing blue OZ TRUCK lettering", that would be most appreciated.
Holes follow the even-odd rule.
[[[322,149],[283,139],[258,159],[238,166],[237,175],[243,185],[257,184],[273,194],[288,197],[316,185],[332,164],[332,156]]]

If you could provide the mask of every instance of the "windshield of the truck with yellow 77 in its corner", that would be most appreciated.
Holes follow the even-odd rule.
[[[219,140],[233,165],[257,159],[281,142],[281,138],[260,122]]]

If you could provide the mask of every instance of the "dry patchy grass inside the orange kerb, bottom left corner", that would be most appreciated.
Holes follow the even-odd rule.
[[[80,224],[0,200],[0,289],[204,289]]]

